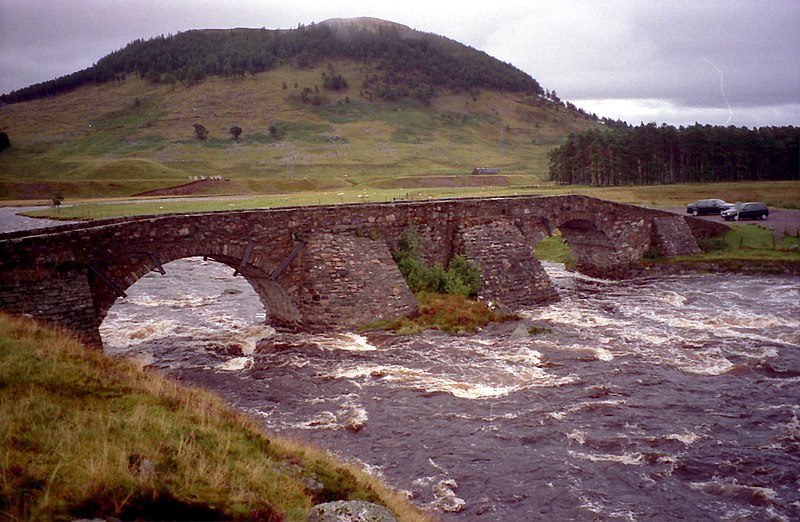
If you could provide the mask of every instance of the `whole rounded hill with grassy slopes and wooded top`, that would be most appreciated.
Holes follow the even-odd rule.
[[[5,101],[2,199],[197,177],[224,179],[192,189],[207,193],[531,184],[597,125],[509,64],[374,19],[140,40]]]

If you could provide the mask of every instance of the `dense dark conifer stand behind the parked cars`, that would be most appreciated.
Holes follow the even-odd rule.
[[[675,128],[655,123],[570,134],[549,153],[566,185],[653,185],[800,179],[800,128]]]

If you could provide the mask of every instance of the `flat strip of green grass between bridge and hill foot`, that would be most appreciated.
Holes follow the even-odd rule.
[[[417,182],[424,178],[417,178]],[[411,180],[409,180],[411,181]],[[366,187],[354,184],[346,189],[319,191],[290,191],[281,194],[248,196],[236,199],[170,199],[153,201],[91,201],[66,200],[74,206],[43,209],[26,215],[56,219],[105,219],[146,214],[208,212],[214,210],[243,210],[275,208],[295,205],[333,205],[341,203],[367,203],[396,200],[427,200],[431,198],[507,196],[532,194],[557,196],[583,194],[587,196],[650,207],[684,206],[686,203],[708,197],[722,197],[727,201],[764,201],[770,207],[800,208],[800,182],[772,181],[719,184],[657,185],[642,187],[579,187],[552,185],[469,186],[468,176],[437,178],[437,183],[450,186],[400,188]]]

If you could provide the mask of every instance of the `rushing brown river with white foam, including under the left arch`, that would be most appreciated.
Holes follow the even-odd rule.
[[[275,332],[200,258],[137,282],[102,335],[445,521],[800,520],[800,278],[546,268],[562,300],[521,338]]]

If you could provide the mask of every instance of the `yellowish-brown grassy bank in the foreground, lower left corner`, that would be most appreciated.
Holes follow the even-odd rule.
[[[209,393],[0,315],[0,518],[297,520],[338,499],[426,518]]]

